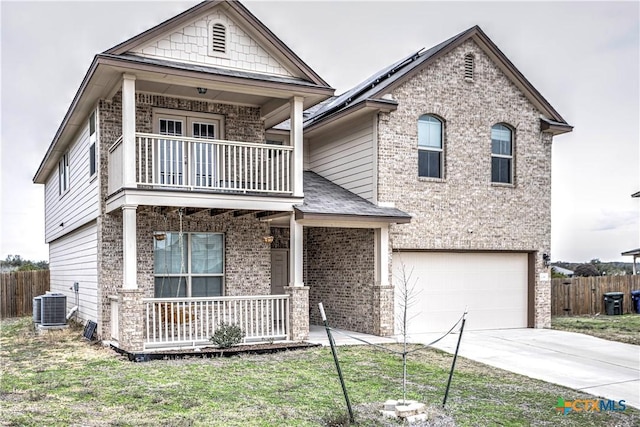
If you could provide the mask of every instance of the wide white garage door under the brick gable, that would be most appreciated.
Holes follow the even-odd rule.
[[[408,334],[446,331],[468,309],[465,329],[527,327],[526,253],[397,252],[393,254],[396,333],[402,266],[411,272]]]

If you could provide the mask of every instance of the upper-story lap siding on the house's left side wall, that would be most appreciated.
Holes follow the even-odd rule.
[[[98,144],[99,142],[96,142],[96,145]],[[92,178],[89,177],[88,122],[71,144],[69,170],[69,190],[65,194],[60,195],[58,191],[57,167],[45,184],[45,240],[47,243],[98,217],[98,178],[97,174]],[[64,225],[60,226],[60,224]]]

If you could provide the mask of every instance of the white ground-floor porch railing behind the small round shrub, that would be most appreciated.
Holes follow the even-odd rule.
[[[289,296],[145,298],[144,349],[211,345],[220,323],[238,325],[245,342],[289,338]]]

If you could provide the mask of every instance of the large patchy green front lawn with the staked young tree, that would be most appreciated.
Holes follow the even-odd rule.
[[[36,336],[29,318],[1,323],[0,425],[321,426],[344,425],[345,405],[328,348],[228,359],[132,363],[70,329]],[[338,349],[358,426],[397,425],[378,410],[401,393],[401,360],[372,348]],[[458,426],[634,426],[640,412],[555,411],[558,398],[593,398],[452,357],[410,356],[408,398],[432,422]]]

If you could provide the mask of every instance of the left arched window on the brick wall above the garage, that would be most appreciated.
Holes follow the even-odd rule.
[[[443,126],[435,116],[425,114],[418,119],[418,176],[442,178]]]

